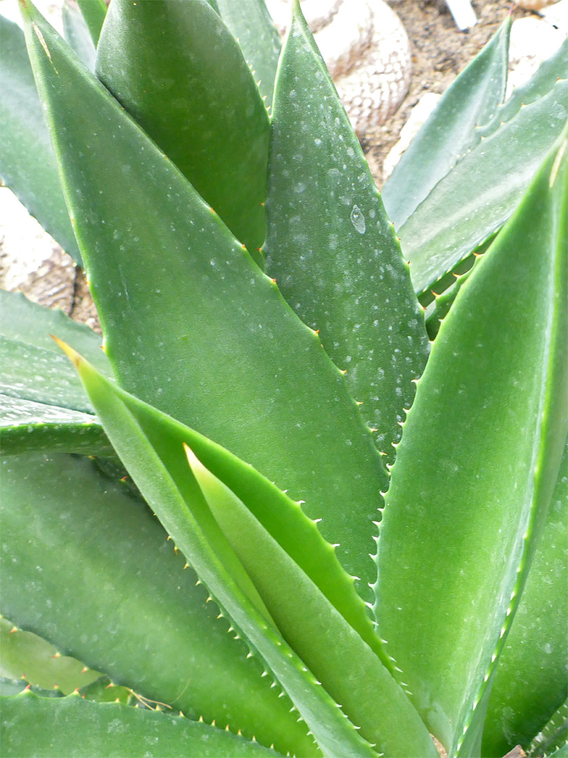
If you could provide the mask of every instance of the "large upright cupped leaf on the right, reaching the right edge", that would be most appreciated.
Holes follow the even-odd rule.
[[[380,526],[379,634],[451,755],[464,735],[479,754],[485,682],[568,431],[567,142],[565,132],[442,324]]]

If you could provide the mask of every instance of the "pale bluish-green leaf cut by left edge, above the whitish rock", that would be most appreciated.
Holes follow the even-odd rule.
[[[0,15],[0,35],[0,178],[80,264],[22,30]]]

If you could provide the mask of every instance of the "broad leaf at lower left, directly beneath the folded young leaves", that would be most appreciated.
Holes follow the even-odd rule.
[[[11,456],[0,485],[2,612],[18,627],[175,712],[314,756],[143,501],[62,454]]]

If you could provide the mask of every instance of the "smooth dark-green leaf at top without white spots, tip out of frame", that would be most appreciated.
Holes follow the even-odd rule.
[[[262,264],[270,122],[239,44],[208,2],[114,0],[96,70]]]

